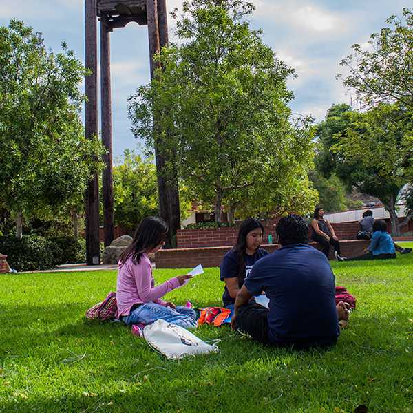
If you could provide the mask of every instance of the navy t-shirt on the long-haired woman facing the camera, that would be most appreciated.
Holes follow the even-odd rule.
[[[238,286],[240,288],[244,285],[244,280],[246,279],[246,277],[248,277],[249,273],[251,273],[255,262],[257,262],[257,260],[260,260],[260,258],[265,257],[266,255],[268,255],[268,252],[263,248],[258,248],[254,255],[245,255],[244,277],[242,277],[242,279],[240,279],[238,282]],[[225,257],[220,265],[221,281],[224,281],[226,278],[238,277],[239,270],[240,267],[238,266],[237,253],[236,251],[231,249],[231,251],[228,251],[228,253],[225,254]],[[229,291],[226,286],[224,288],[224,294],[222,295],[222,301],[224,302],[224,307],[235,303],[235,298],[231,298],[231,295],[229,295]]]

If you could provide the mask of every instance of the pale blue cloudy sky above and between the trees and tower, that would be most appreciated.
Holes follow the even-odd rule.
[[[317,120],[333,103],[350,103],[335,75],[342,72],[339,62],[354,43],[366,43],[370,34],[385,25],[391,14],[401,14],[407,0],[250,0],[256,10],[253,28],[264,30],[264,43],[279,58],[295,67],[297,79],[289,82],[295,93],[291,107]],[[167,0],[172,10],[182,0]],[[83,0],[1,0],[0,24],[14,17],[43,32],[45,44],[59,50],[66,41],[83,61]],[[173,21],[169,30],[173,39]],[[136,149],[129,131],[127,98],[138,85],[149,81],[147,28],[135,23],[112,33],[112,101],[114,156]]]

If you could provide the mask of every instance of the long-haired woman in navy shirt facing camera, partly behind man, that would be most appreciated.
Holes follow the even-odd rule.
[[[253,265],[268,252],[260,248],[264,226],[255,218],[248,218],[240,225],[235,246],[226,253],[220,265],[221,281],[225,282],[222,301],[225,308],[233,310],[235,298],[244,285]]]

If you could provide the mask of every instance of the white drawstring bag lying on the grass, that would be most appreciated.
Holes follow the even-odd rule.
[[[165,320],[156,320],[145,326],[143,337],[149,346],[170,360],[182,359],[189,354],[209,354],[220,351],[215,343],[212,345],[204,343],[185,328],[167,323]]]

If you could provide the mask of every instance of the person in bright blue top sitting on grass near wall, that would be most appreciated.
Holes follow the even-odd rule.
[[[370,245],[362,255],[353,258],[341,258],[342,261],[359,260],[389,260],[396,258],[396,248],[392,237],[387,232],[387,225],[383,220],[375,220]]]

